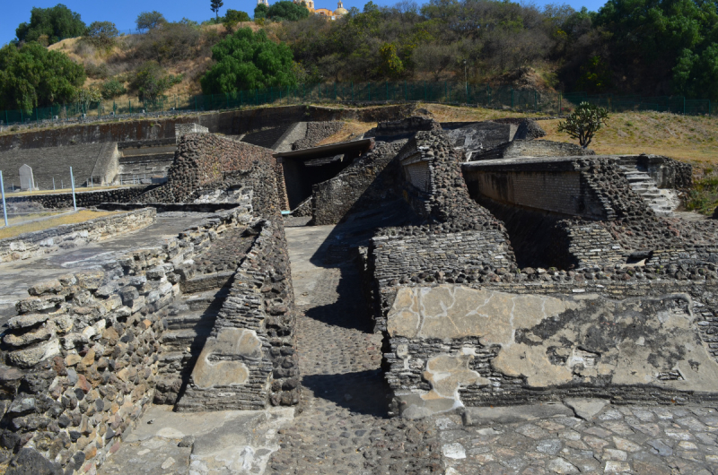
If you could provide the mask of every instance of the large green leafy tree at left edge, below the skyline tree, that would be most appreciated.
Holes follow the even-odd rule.
[[[7,45],[0,49],[0,109],[72,102],[85,77],[82,65],[39,43]]]

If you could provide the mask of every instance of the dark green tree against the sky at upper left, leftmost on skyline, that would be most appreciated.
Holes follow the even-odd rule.
[[[64,4],[57,4],[50,8],[33,8],[30,23],[21,23],[15,35],[18,41],[37,41],[40,36],[47,35],[51,45],[60,39],[82,36],[85,28],[80,13],[74,13]]]

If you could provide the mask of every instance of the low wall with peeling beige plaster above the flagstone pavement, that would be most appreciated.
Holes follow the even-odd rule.
[[[701,341],[705,317],[694,313],[704,304],[671,288],[638,298],[616,288],[399,289],[387,354],[396,409],[417,417],[594,391],[618,401],[714,399],[718,365]]]

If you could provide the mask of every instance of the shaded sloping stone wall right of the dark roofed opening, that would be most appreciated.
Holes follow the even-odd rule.
[[[393,175],[397,171],[396,167],[387,168],[405,143],[379,142],[337,177],[315,185],[311,193],[312,222],[336,224],[349,213],[368,210],[386,200],[395,188]],[[301,216],[296,210],[293,215]]]

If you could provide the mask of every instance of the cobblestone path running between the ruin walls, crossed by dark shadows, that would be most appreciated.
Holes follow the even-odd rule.
[[[431,421],[386,418],[381,335],[370,332],[358,272],[342,234],[333,231],[286,229],[302,311],[297,348],[303,393],[293,424],[279,431],[281,448],[267,473],[442,473]],[[330,249],[329,259],[317,252],[320,246]]]

